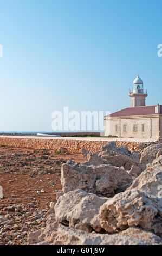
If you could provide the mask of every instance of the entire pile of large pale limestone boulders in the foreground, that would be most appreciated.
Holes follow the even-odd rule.
[[[162,144],[131,152],[109,142],[82,154],[85,162],[62,164],[47,227],[30,232],[28,244],[162,245]]]

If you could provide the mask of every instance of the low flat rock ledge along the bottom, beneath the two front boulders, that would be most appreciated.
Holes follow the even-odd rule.
[[[120,233],[121,234],[121,233]],[[46,228],[30,232],[28,235],[29,245],[159,245],[160,238],[142,231],[141,235],[128,236],[124,234],[108,235],[88,233],[82,230],[76,230],[64,227],[57,222],[48,225]],[[133,237],[134,236],[134,237]],[[136,238],[136,237],[139,237]],[[146,240],[148,239],[148,241]]]

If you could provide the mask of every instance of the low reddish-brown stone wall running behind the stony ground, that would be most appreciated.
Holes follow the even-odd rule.
[[[82,148],[88,149],[91,152],[101,150],[103,144],[109,141],[84,141],[80,139],[42,139],[42,138],[9,138],[0,137],[0,146],[7,145],[16,148],[31,148],[31,149],[50,149],[59,150],[60,147],[67,148],[70,153],[80,153]],[[117,147],[126,145],[129,150],[133,151],[138,147],[140,142],[117,141]]]

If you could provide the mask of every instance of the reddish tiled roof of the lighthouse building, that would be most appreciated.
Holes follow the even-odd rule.
[[[126,117],[129,115],[152,115],[155,114],[155,106],[156,105],[143,107],[127,107],[118,112],[112,113],[110,117]],[[160,114],[162,114],[162,105],[160,105]]]

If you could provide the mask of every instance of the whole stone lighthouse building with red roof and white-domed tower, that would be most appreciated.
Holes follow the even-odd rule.
[[[129,90],[131,107],[107,115],[105,119],[105,136],[119,138],[162,138],[162,105],[146,106],[147,90],[139,77],[133,81]]]

